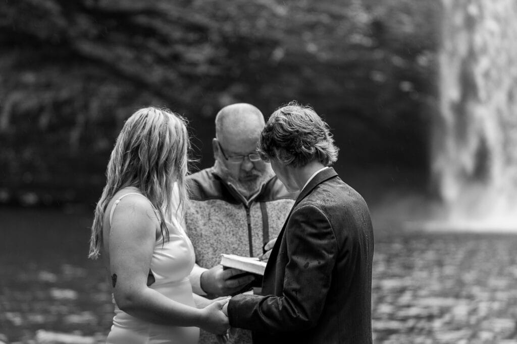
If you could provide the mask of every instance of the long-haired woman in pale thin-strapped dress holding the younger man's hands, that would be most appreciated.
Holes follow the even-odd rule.
[[[227,338],[227,299],[198,309],[188,280],[194,250],[178,219],[188,146],[184,120],[153,107],[136,111],[117,138],[89,252],[102,256],[113,287],[107,343],[195,344],[199,327]]]

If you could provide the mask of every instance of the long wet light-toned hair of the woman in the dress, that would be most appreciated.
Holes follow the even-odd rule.
[[[186,119],[168,109],[142,108],[126,120],[111,152],[106,186],[95,208],[89,258],[99,257],[106,208],[113,195],[126,187],[138,188],[149,199],[160,221],[163,242],[169,240],[165,221],[173,215],[174,184],[179,192],[174,209],[177,215],[183,215],[188,202],[185,178],[189,148]]]

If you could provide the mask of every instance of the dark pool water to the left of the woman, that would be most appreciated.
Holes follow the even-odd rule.
[[[87,259],[91,214],[0,208],[0,333],[37,330],[97,337],[113,307],[100,261]]]

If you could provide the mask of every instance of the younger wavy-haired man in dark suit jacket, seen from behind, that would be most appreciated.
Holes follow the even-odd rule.
[[[258,152],[290,191],[301,190],[273,247],[262,296],[223,311],[254,343],[371,343],[373,231],[366,203],[333,168],[338,148],[310,107],[269,118]]]

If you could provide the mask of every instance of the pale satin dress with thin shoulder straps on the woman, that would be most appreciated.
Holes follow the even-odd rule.
[[[112,206],[110,226],[113,211],[122,198]],[[145,197],[145,196],[144,196]],[[155,283],[149,286],[171,300],[195,307],[192,297],[192,286],[188,276],[194,266],[194,249],[184,228],[177,219],[167,223],[169,241],[163,243],[160,238],[156,241],[151,258],[150,272],[155,277]],[[115,301],[113,300],[113,303]],[[130,316],[120,310],[115,304],[113,325],[106,340],[107,344],[196,344],[199,340],[198,327],[180,327],[156,325]]]

